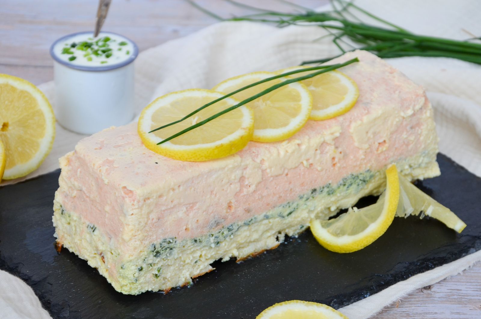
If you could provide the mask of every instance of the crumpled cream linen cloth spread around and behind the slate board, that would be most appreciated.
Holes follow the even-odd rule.
[[[416,33],[459,40],[471,38],[466,31],[481,35],[478,0],[356,3]],[[136,61],[137,110],[171,91],[211,88],[220,80],[242,73],[276,70],[338,54],[328,39],[319,39],[325,33],[312,26],[279,29],[249,22],[224,22],[146,50]],[[441,152],[481,176],[481,66],[447,58],[409,57],[388,62],[426,88],[435,108]],[[54,105],[53,83],[42,84],[40,89]],[[57,169],[57,159],[72,150],[82,137],[57,125],[51,154],[26,178]],[[479,190],[473,190],[473,195],[475,192],[478,197],[481,195]],[[481,252],[470,254],[399,282],[341,311],[351,319],[368,318],[407,293],[456,275],[480,260]],[[30,287],[4,271],[0,272],[0,317],[50,318]]]

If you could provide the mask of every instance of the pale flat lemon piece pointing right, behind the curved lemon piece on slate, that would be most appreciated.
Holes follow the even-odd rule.
[[[432,199],[402,175],[399,175],[399,186],[400,196],[396,216],[407,217],[423,212],[421,218],[425,215],[430,216],[458,233],[466,227],[466,224],[449,208]]]

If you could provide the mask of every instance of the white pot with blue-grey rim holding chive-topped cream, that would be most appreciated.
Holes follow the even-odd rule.
[[[110,64],[101,64],[100,59],[89,61],[93,62],[91,65],[80,61],[84,53],[78,51],[76,54],[75,48],[72,52],[79,56],[77,61],[69,61],[68,55],[63,56],[61,49],[66,47],[65,43],[91,34],[80,32],[65,36],[55,41],[50,50],[54,59],[56,118],[66,129],[83,134],[124,125],[134,118],[133,62],[139,52],[137,46],[123,36],[102,32],[99,37],[111,36],[125,41],[132,52],[125,54],[124,50],[122,55],[126,56],[121,56],[118,51],[118,57],[114,52],[112,59],[104,59]]]

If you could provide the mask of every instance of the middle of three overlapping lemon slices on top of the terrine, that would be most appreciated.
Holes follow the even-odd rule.
[[[220,82],[212,90],[231,93],[275,75],[272,72],[248,73]],[[284,80],[287,79],[271,80],[232,96],[242,101]],[[258,97],[246,105],[254,111],[252,139],[258,142],[275,142],[291,137],[304,126],[311,113],[312,96],[304,84],[296,82]]]

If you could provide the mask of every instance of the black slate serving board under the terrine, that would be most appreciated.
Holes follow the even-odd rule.
[[[0,269],[25,280],[53,318],[255,318],[291,299],[340,308],[481,249],[481,178],[441,154],[438,162],[442,175],[418,187],[468,224],[462,234],[428,218],[395,218],[367,248],[339,254],[306,231],[245,262],[216,262],[190,288],[137,296],[115,292],[74,253],[55,251],[55,171],[0,188]]]

